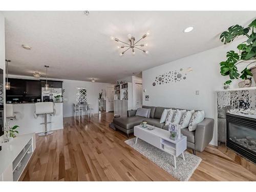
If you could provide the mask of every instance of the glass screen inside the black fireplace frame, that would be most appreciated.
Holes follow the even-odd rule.
[[[229,139],[256,153],[256,130],[236,122],[228,122]]]

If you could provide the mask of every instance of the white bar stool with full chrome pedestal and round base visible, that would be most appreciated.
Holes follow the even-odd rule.
[[[47,114],[53,114],[55,115],[55,109],[53,109],[53,102],[37,102],[35,103],[35,112],[34,112],[34,118],[37,118],[38,115],[44,114],[45,116],[45,122],[40,123],[45,125],[45,132],[39,133],[38,136],[46,136],[53,133],[53,131],[47,130],[47,124],[51,123],[47,121]]]

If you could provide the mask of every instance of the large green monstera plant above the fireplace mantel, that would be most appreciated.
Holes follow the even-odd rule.
[[[227,60],[220,62],[221,75],[229,75],[230,79],[247,79],[248,76],[252,76],[251,70],[248,66],[252,63],[256,63],[256,19],[247,27],[240,25],[234,25],[224,31],[220,39],[224,44],[228,44],[238,36],[245,36],[246,41],[239,44],[236,51],[227,52]],[[248,65],[241,71],[238,71],[237,65],[239,63],[247,63]],[[226,81],[227,82],[227,81]],[[230,82],[230,80],[228,80]]]

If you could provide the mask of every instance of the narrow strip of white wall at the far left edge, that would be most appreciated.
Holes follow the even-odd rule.
[[[5,86],[5,17],[0,11],[0,68],[4,70],[4,86]],[[4,89],[4,119],[5,115],[5,89]]]

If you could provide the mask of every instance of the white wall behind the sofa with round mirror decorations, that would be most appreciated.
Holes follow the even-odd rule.
[[[205,116],[215,119],[214,138],[211,144],[217,145],[217,89],[222,89],[228,77],[221,76],[219,63],[226,60],[226,52],[236,50],[242,40],[191,55],[142,72],[143,105],[169,106],[174,108],[204,110]],[[170,53],[171,54],[171,53]],[[193,68],[185,80],[153,86],[156,76],[167,71]],[[237,86],[238,81],[232,83]],[[196,95],[199,90],[199,95]],[[145,95],[150,96],[145,101]]]

